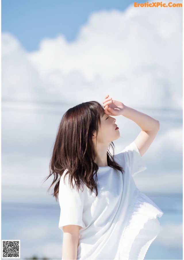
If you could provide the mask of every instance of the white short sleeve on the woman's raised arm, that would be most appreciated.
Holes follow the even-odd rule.
[[[132,176],[147,169],[134,141],[127,145],[121,153],[124,155],[125,163],[129,165]]]

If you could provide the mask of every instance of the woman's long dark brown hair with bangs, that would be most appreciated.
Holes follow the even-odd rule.
[[[101,125],[100,115],[104,115],[104,113],[104,107],[97,101],[81,103],[64,113],[57,130],[53,153],[49,163],[49,176],[46,177],[47,180],[52,174],[54,175],[51,186],[55,182],[56,184],[54,193],[51,195],[55,197],[56,201],[58,199],[60,178],[66,169],[68,169],[67,174],[69,174],[70,186],[72,185],[72,188],[74,188],[72,183],[74,180],[77,190],[79,190],[82,180],[91,192],[94,188],[96,196],[98,195],[96,182],[96,180],[98,181],[98,165],[94,162],[95,149],[92,136],[94,131],[96,131],[96,135],[98,134],[98,124]],[[113,150],[113,156],[109,151],[110,146]],[[115,170],[120,170],[123,174],[123,168],[114,161],[113,142],[110,143],[109,148],[107,151],[108,166]],[[95,181],[93,179],[94,175]]]

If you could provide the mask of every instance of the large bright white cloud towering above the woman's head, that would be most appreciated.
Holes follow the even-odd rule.
[[[160,9],[94,13],[76,41],[43,39],[28,59],[61,98],[72,90],[81,102],[98,90],[130,105],[182,107],[182,10]]]

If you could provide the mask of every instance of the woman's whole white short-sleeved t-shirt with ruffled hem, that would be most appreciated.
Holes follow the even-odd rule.
[[[80,226],[77,259],[143,259],[161,230],[157,217],[163,211],[138,190],[133,180],[135,174],[147,169],[135,142],[116,154],[114,160],[123,167],[124,174],[110,166],[99,167],[97,197],[96,191],[91,193],[84,184],[84,190],[81,187],[78,193],[73,181],[71,189],[68,174],[64,183],[67,169],[61,176],[59,228]]]

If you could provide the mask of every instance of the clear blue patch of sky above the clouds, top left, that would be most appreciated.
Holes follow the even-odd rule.
[[[80,27],[92,12],[123,11],[133,1],[127,0],[1,0],[1,30],[10,32],[27,51],[39,48],[43,38],[63,34],[74,41]]]

